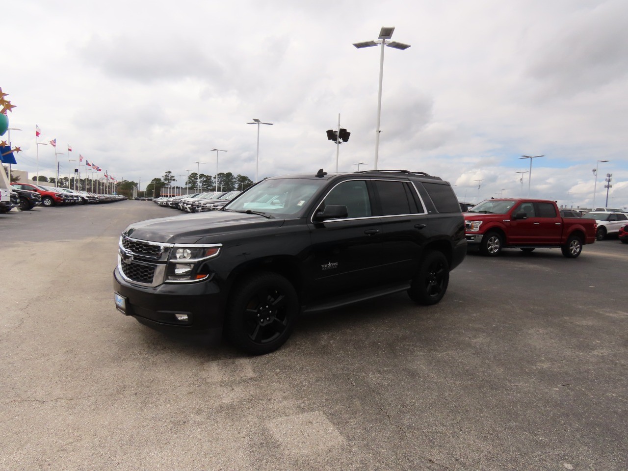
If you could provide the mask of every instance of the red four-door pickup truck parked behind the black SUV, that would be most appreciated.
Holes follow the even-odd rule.
[[[560,217],[549,200],[490,199],[463,215],[467,246],[479,247],[486,256],[497,256],[504,248],[531,252],[560,247],[565,257],[575,258],[584,244],[595,242],[595,220]]]

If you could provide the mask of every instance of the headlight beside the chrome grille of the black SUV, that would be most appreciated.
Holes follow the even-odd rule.
[[[190,283],[208,278],[211,273],[205,261],[217,257],[220,247],[222,244],[175,244],[170,249],[165,281]]]

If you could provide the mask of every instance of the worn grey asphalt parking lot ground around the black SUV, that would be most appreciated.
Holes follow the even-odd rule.
[[[304,318],[246,357],[114,307],[121,230],[178,214],[0,215],[0,469],[628,468],[628,245],[470,254],[436,306]]]

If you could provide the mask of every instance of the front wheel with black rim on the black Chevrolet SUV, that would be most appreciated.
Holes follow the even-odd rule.
[[[261,272],[233,286],[225,333],[250,355],[277,350],[295,327],[300,305],[294,286],[283,276]]]

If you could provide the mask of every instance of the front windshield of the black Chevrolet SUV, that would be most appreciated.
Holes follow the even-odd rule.
[[[325,180],[273,178],[261,181],[225,206],[227,211],[255,211],[266,214],[296,215],[307,207]]]

